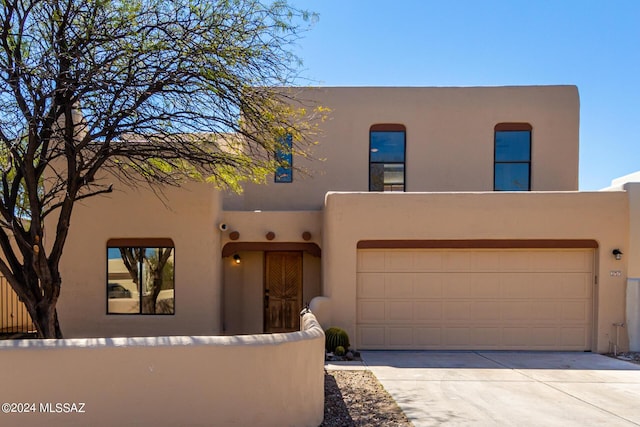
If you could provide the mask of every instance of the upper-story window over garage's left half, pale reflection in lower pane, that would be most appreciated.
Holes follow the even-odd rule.
[[[379,124],[369,129],[369,191],[404,191],[406,128]]]

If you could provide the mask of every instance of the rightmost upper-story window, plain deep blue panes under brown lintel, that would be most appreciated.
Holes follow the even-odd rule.
[[[531,190],[531,130],[528,123],[499,123],[495,126],[495,191]]]

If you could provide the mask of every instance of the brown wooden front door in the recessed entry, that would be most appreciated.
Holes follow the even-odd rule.
[[[300,330],[302,252],[266,252],[264,331]]]

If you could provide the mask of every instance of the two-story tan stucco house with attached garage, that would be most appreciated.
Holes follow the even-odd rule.
[[[640,187],[578,191],[575,86],[295,90],[331,109],[308,174],[78,205],[66,337],[291,331],[309,303],[359,349],[636,345]]]

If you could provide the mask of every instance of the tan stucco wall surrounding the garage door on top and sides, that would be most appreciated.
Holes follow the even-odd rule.
[[[324,295],[331,325],[355,334],[356,255],[360,240],[593,239],[595,343],[606,352],[624,321],[626,266],[613,248],[628,247],[625,192],[562,193],[330,193],[323,224]],[[611,276],[621,271],[621,276]],[[355,342],[356,340],[353,339]],[[621,345],[626,345],[625,336]]]

